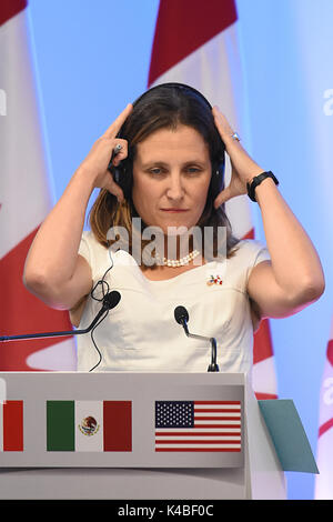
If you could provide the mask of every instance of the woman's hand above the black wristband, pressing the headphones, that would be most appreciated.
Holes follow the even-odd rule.
[[[215,106],[213,108],[213,116],[215,126],[225,144],[225,150],[231,161],[231,180],[229,185],[220,192],[215,198],[214,207],[218,209],[222,203],[236,195],[246,194],[246,183],[250,182],[255,175],[264,171],[248,152],[243,149],[241,143],[232,138],[234,130],[230,127],[225,116],[222,114],[220,109]]]

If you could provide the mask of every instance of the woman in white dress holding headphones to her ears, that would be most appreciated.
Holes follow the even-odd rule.
[[[225,189],[224,150],[232,164]],[[79,370],[206,371],[210,344],[186,338],[174,320],[175,307],[184,305],[190,331],[216,339],[220,370],[248,373],[258,321],[292,315],[320,298],[324,277],[315,249],[276,179],[258,178],[263,170],[218,107],[190,87],[159,86],[124,109],[42,223],[24,268],[27,288],[50,307],[70,310],[80,328],[98,314],[108,290],[119,291],[119,304],[93,338],[78,337]],[[91,231],[82,233],[95,188]],[[268,248],[233,238],[224,214],[224,202],[248,189]],[[144,257],[147,240],[138,249],[134,239],[149,227],[163,241]],[[188,234],[189,259],[182,232],[193,228],[213,231],[212,249],[196,248],[195,234]],[[119,247],[119,230],[128,248]]]

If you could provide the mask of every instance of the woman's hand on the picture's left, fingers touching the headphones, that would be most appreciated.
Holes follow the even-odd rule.
[[[108,170],[112,152],[115,145],[120,144],[120,152],[114,157],[112,164],[117,167],[128,155],[128,142],[117,138],[122,124],[133,110],[133,106],[129,103],[127,108],[119,114],[114,122],[107,131],[94,142],[89,154],[80,164],[78,170],[89,175],[93,188],[107,189],[114,194],[119,201],[123,200],[122,189],[113,180],[111,172]]]

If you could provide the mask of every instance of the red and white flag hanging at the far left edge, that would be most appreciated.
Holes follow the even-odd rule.
[[[0,335],[71,330],[23,285],[33,237],[53,205],[29,40],[27,0],[0,2]],[[0,342],[1,371],[73,370],[72,337]]]

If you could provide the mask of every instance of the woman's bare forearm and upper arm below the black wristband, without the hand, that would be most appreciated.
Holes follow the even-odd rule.
[[[251,272],[248,292],[262,317],[292,315],[316,301],[325,281],[319,255],[273,180],[255,189],[271,261]]]

